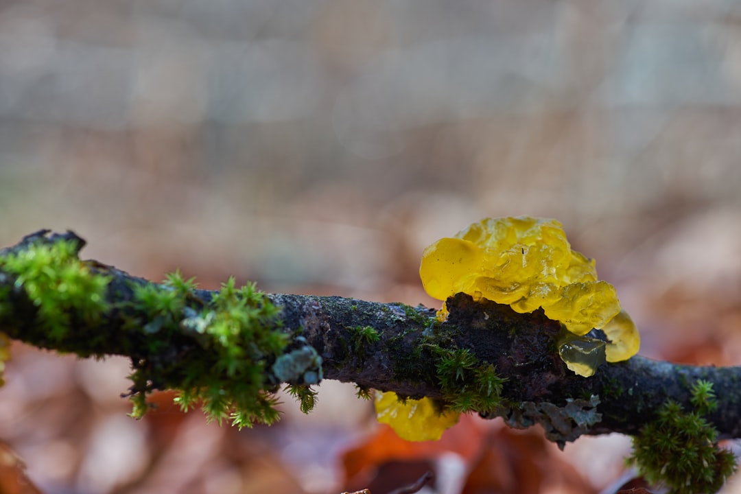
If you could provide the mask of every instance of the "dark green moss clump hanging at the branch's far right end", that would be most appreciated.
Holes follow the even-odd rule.
[[[736,458],[718,447],[717,430],[702,416],[717,407],[712,383],[697,381],[691,391],[696,410],[666,401],[657,418],[634,437],[628,461],[671,493],[715,493],[736,470]]]

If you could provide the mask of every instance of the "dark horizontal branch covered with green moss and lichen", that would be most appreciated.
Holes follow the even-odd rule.
[[[0,330],[82,357],[128,356],[134,415],[146,410],[147,393],[174,389],[183,407],[202,403],[216,420],[270,422],[282,383],[310,410],[311,385],[330,378],[515,427],[541,423],[563,444],[579,434],[637,434],[669,399],[693,410],[687,383],[703,380],[723,397],[708,423],[720,438],[741,437],[738,367],[634,357],[582,378],[559,358],[560,325],[542,310],[520,314],[458,294],[439,322],[422,306],[266,295],[233,280],[212,292],[178,273],[156,284],[80,261],[83,245],[73,233],[42,231],[0,250]]]

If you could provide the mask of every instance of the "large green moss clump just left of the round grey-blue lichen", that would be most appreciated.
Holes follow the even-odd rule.
[[[273,393],[277,385],[268,376],[270,366],[284,353],[290,335],[280,330],[279,308],[256,290],[254,284],[236,288],[234,278],[222,284],[205,307],[194,309],[191,298],[196,284],[180,273],[167,276],[162,286],[145,284],[134,288],[133,310],[144,315],[143,333],[185,332],[203,348],[203,353],[179,358],[179,380],[164,377],[166,387],[179,390],[176,401],[183,410],[200,404],[209,420],[230,418],[238,427],[272,424],[279,418]],[[132,321],[133,324],[136,321]],[[167,342],[170,338],[165,338]],[[161,345],[162,338],[153,345]],[[153,354],[162,350],[150,348]],[[131,379],[134,417],[147,410],[145,395],[158,380],[152,362],[134,362]],[[154,369],[155,375],[152,374]],[[301,395],[308,396],[305,390]],[[302,404],[309,398],[302,398]]]

